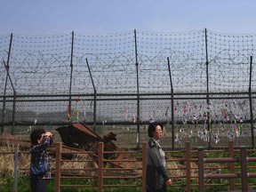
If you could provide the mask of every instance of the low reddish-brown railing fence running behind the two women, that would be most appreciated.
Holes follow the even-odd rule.
[[[197,150],[192,149],[190,143],[186,143],[186,148],[180,151],[167,151],[167,164],[171,162],[180,162],[179,167],[168,168],[168,172],[179,170],[183,175],[171,174],[172,187],[183,188],[183,191],[193,191],[198,188],[199,192],[205,191],[207,187],[225,185],[229,191],[237,188],[242,191],[248,191],[256,188],[251,178],[256,178],[256,157],[255,149],[234,148],[233,141],[228,142],[228,150],[208,150],[202,147]],[[225,157],[210,157],[211,153],[228,153]],[[14,180],[13,191],[17,189],[17,175],[19,172],[28,172],[28,168],[19,168],[19,153],[15,150],[14,154]],[[25,153],[22,151],[22,153]],[[28,152],[27,152],[28,153]],[[1,152],[4,156],[10,153]],[[106,155],[124,154],[124,158],[104,158]],[[63,156],[76,156],[76,158],[64,158]],[[79,158],[85,156],[85,158]],[[130,157],[133,158],[130,158]],[[135,158],[134,158],[135,156]],[[52,167],[52,173],[55,174],[55,192],[60,192],[62,188],[94,188],[95,191],[103,192],[107,188],[134,188],[134,191],[146,191],[146,170],[147,170],[147,143],[142,144],[142,150],[138,151],[104,151],[104,144],[99,143],[97,155],[92,151],[62,151],[62,143],[56,143],[55,169]],[[17,161],[17,162],[16,162]],[[76,166],[75,164],[91,164],[91,166]],[[68,164],[68,166],[64,166]],[[125,164],[129,166],[125,167]],[[196,164],[191,166],[191,164]],[[210,164],[210,165],[208,165]],[[212,164],[218,164],[216,168]],[[250,164],[250,165],[248,165]],[[223,165],[223,166],[222,166]],[[216,170],[219,170],[216,172]],[[226,170],[223,172],[223,170]],[[75,172],[75,173],[74,173]],[[79,172],[82,172],[79,174]],[[86,172],[86,173],[84,173]],[[193,172],[193,173],[192,173]],[[195,173],[196,172],[196,173]],[[227,173],[228,172],[228,173]],[[226,182],[208,183],[206,180],[226,180]],[[239,180],[241,181],[239,181]],[[72,184],[64,180],[91,180],[92,182],[76,182]],[[108,182],[108,180],[124,180],[124,182]],[[180,181],[183,180],[183,181]],[[130,182],[129,182],[130,181]],[[117,184],[116,184],[117,183]],[[63,191],[63,190],[62,190]]]

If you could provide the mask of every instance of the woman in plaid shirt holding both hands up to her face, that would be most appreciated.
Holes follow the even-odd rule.
[[[52,146],[53,136],[51,132],[45,132],[44,129],[36,129],[30,134],[31,146],[31,163],[42,164],[45,160],[48,164],[48,170],[42,174],[33,174],[30,172],[31,191],[32,192],[46,192],[47,184],[52,179],[50,170],[50,156],[46,149]]]

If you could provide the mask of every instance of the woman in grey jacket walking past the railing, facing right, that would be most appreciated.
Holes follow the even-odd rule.
[[[165,192],[166,186],[172,185],[166,171],[166,160],[164,150],[159,144],[163,135],[163,125],[151,123],[148,126],[148,164],[146,185],[147,192]]]

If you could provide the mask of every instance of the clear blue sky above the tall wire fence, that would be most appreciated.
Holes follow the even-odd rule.
[[[255,0],[0,0],[0,35],[256,33]]]

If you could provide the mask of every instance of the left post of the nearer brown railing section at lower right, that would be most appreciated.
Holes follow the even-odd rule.
[[[199,192],[204,192],[204,147],[198,148],[198,185]]]

